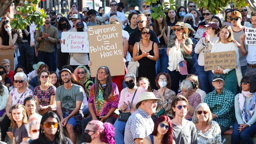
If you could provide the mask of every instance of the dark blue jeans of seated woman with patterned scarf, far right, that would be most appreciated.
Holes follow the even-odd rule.
[[[253,137],[256,134],[256,123],[254,123],[250,127],[246,127],[241,131],[241,133],[239,133],[238,127],[239,125],[237,124],[237,122],[235,122],[233,126],[233,132],[231,135],[231,143],[240,144],[241,141],[242,143],[253,144],[251,137]]]

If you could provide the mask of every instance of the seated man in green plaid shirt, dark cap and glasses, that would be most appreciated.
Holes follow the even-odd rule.
[[[215,90],[205,96],[204,102],[209,106],[213,120],[218,122],[223,134],[230,127],[235,95],[224,88],[225,81],[221,74],[213,76],[212,84]],[[224,138],[222,138],[223,141],[225,141]]]

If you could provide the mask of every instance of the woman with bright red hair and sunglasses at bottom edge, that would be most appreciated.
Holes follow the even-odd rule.
[[[155,120],[153,132],[143,139],[143,143],[175,144],[172,131],[173,125],[171,124],[171,119],[166,115],[161,115]]]

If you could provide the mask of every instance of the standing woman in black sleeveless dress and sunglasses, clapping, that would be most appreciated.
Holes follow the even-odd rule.
[[[156,89],[155,85],[155,64],[158,60],[158,46],[156,43],[149,40],[150,32],[148,27],[141,29],[142,40],[134,44],[133,47],[133,60],[139,62],[138,76],[147,77],[151,84],[152,89]],[[139,44],[139,51],[138,46]]]

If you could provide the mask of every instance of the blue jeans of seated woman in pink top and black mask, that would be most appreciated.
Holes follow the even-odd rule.
[[[116,144],[124,144],[123,138],[124,138],[124,134],[125,134],[125,125],[126,122],[122,122],[122,121],[115,121],[114,123],[114,128],[115,128],[115,143]]]

